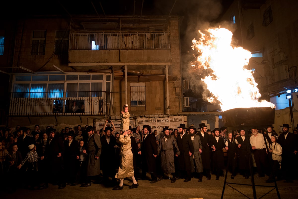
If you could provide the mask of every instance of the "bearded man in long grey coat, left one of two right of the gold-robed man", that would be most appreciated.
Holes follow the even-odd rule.
[[[180,155],[180,151],[178,149],[177,142],[174,136],[170,135],[169,127],[164,127],[162,132],[164,135],[160,138],[160,142],[158,145],[158,154],[160,154],[161,159],[161,167],[164,173],[172,174],[171,183],[176,182],[175,178],[175,164],[174,164],[174,155],[178,157]],[[174,154],[175,151],[175,154]],[[158,179],[162,180],[164,174]]]

